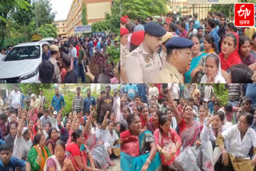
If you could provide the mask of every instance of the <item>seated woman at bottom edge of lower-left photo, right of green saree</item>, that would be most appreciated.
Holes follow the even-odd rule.
[[[54,149],[54,155],[46,160],[44,171],[75,170],[72,161],[66,156],[65,149],[65,144],[58,140]]]

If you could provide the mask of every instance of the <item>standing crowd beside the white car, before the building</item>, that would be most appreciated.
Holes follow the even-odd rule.
[[[107,46],[118,46],[115,38],[114,34],[106,38],[101,35],[90,38],[70,37],[67,40],[59,38],[53,45],[43,45],[43,62],[39,66],[40,81],[78,83],[78,78],[81,78],[81,82],[85,83],[87,76],[90,82],[94,83],[117,83],[120,79],[119,64],[116,66],[114,78],[106,74],[94,75],[90,72],[90,61],[93,58],[98,58],[98,54],[105,55]]]

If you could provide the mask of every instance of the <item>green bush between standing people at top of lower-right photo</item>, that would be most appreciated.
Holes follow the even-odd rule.
[[[221,106],[226,105],[228,101],[228,89],[225,87],[226,84],[212,84],[214,87],[214,93],[218,97],[218,101],[221,104]]]

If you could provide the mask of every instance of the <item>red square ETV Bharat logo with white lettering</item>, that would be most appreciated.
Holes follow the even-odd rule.
[[[254,26],[254,4],[236,3],[234,5],[234,26]]]

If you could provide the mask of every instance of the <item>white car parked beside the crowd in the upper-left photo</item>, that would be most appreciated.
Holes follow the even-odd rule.
[[[0,62],[0,83],[40,83],[38,66],[42,63],[42,45],[28,42],[14,46]]]

